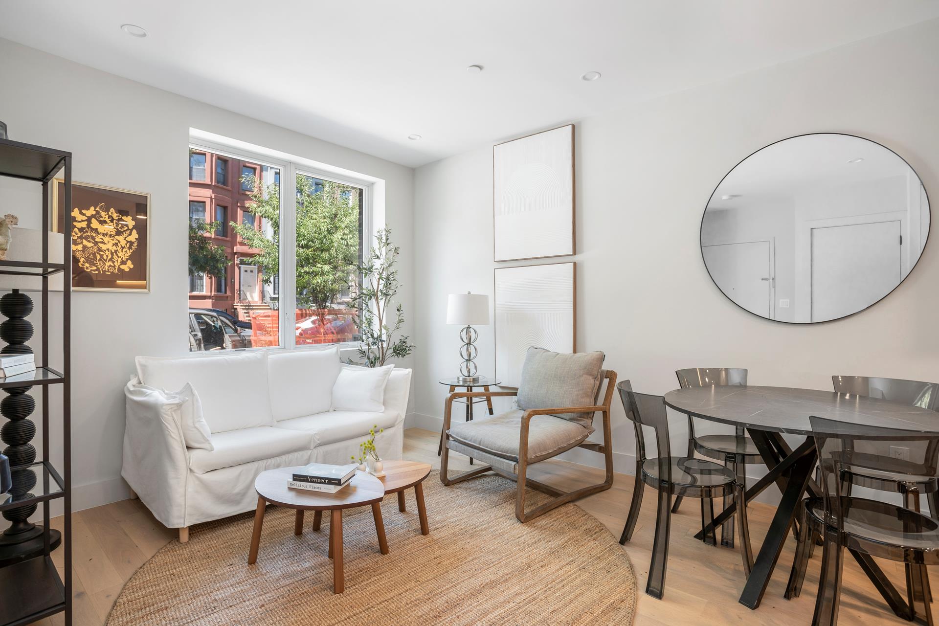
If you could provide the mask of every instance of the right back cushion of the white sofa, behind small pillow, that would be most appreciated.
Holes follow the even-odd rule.
[[[268,384],[274,420],[292,420],[329,411],[332,386],[341,367],[338,346],[269,355]]]

